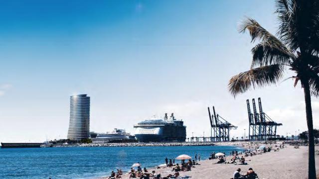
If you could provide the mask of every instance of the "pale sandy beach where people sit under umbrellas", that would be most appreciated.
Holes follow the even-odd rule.
[[[246,148],[249,146],[254,148],[261,144],[241,143],[237,145],[245,146]],[[274,147],[275,145],[273,144],[272,146]],[[316,150],[318,149],[319,147],[316,147]],[[179,172],[179,174],[181,177],[189,176],[192,179],[231,179],[236,169],[240,168],[242,171],[241,174],[244,175],[249,168],[253,168],[258,174],[259,179],[307,179],[308,147],[305,146],[294,149],[293,146],[287,145],[284,149],[280,149],[279,151],[271,151],[252,157],[249,156],[245,157],[245,159],[248,165],[213,164],[217,162],[217,159],[204,160],[198,162],[200,165],[196,165],[191,171]],[[319,156],[316,155],[316,161],[318,160]],[[226,161],[230,161],[230,157],[227,157]],[[318,173],[319,165],[317,164],[316,169]],[[166,167],[148,170],[149,172],[155,170],[156,173],[161,174],[162,177],[174,173],[171,172],[172,168]],[[129,179],[129,176],[124,175],[123,179]]]

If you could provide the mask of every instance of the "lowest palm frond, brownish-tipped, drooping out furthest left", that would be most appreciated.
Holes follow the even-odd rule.
[[[283,77],[283,73],[283,66],[278,64],[251,69],[233,76],[228,83],[228,90],[236,96],[251,88],[276,84]]]

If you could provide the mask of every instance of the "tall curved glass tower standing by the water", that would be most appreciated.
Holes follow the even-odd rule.
[[[68,139],[81,140],[90,135],[90,97],[87,94],[70,96]]]

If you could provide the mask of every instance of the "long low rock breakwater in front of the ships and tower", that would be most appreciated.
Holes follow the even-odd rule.
[[[213,146],[215,142],[167,142],[167,143],[91,143],[63,144],[53,147],[161,147],[161,146]]]

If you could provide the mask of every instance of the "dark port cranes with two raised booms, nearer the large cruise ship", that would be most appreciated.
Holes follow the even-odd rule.
[[[210,109],[208,107],[208,115],[211,126],[211,141],[229,141],[229,130],[237,129],[237,126],[232,125],[228,121],[226,121],[219,114],[216,115],[215,107],[213,106],[213,114],[210,113]],[[212,132],[213,131],[213,132]],[[212,135],[214,133],[214,135]]]

